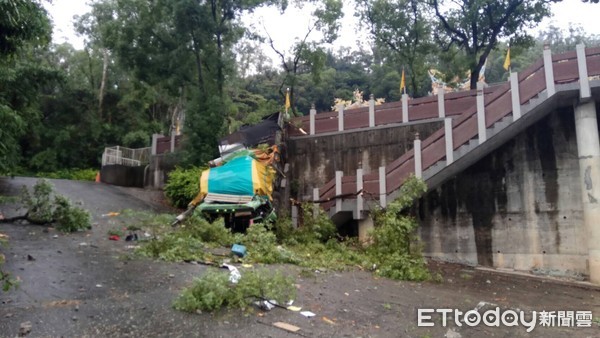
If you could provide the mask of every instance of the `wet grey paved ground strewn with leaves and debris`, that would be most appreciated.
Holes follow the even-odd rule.
[[[28,178],[0,178],[0,195],[16,194]],[[295,276],[294,305],[316,315],[275,308],[249,313],[188,314],[172,308],[182,288],[207,269],[188,263],[130,259],[131,242],[109,241],[107,231],[121,226],[122,209],[172,211],[160,192],[91,182],[52,180],[56,190],[81,200],[94,217],[92,230],[62,234],[23,224],[0,224],[10,236],[4,269],[21,280],[16,290],[0,293],[0,336],[15,337],[24,323],[28,337],[600,337],[599,288],[530,275],[430,262],[442,282],[400,282],[376,278],[358,269],[300,273],[292,266],[270,266]],[[0,205],[6,217],[16,215]],[[240,268],[242,275],[244,269]],[[458,326],[440,313],[432,327],[419,327],[418,309],[478,308],[519,311],[591,311],[591,327],[524,325]],[[568,312],[566,312],[568,313]],[[450,318],[450,317],[449,317]],[[275,322],[299,328],[289,332]],[[429,322],[429,321],[427,321]],[[583,321],[579,323],[584,323]],[[568,323],[567,323],[568,324]],[[575,323],[573,323],[575,324]]]

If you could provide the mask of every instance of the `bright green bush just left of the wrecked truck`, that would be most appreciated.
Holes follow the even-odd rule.
[[[165,195],[171,204],[185,208],[200,191],[200,174],[205,168],[193,167],[184,169],[177,167],[169,173],[165,184]]]

